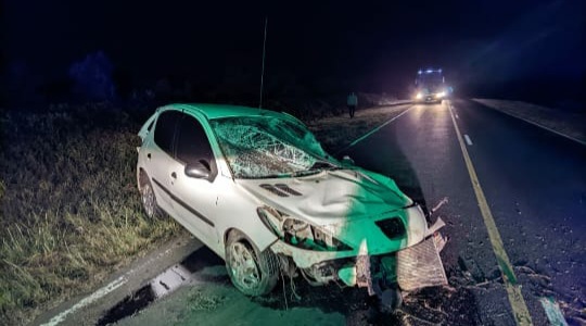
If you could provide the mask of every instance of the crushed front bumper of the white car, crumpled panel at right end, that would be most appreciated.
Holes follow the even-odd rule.
[[[440,258],[445,239],[437,231],[444,225],[438,218],[428,229],[423,241],[382,254],[309,251],[282,241],[273,243],[271,250],[290,256],[314,285],[340,280],[347,286],[366,287],[373,294],[385,285],[396,284],[408,292],[422,287],[447,285]]]

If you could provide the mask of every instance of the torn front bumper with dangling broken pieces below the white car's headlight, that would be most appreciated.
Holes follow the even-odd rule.
[[[415,290],[448,284],[440,258],[446,243],[446,238],[440,233],[443,226],[445,224],[442,218],[437,218],[426,228],[423,240],[395,252],[369,254],[368,250],[361,248],[357,255],[339,259],[332,256],[331,260],[304,267],[297,266],[294,255],[283,250],[279,242],[271,249],[281,258],[284,275],[295,277],[301,274],[311,286],[335,283],[366,288],[369,296],[382,300],[391,291],[399,298],[392,303],[391,309],[396,309],[400,298]],[[323,253],[315,255],[324,256]]]

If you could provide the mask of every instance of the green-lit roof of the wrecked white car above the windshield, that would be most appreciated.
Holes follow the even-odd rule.
[[[206,104],[206,103],[175,103],[163,106],[162,109],[175,109],[186,112],[200,113],[207,120],[220,118],[220,117],[233,117],[233,116],[268,116],[279,117],[288,120],[298,120],[288,113],[280,113],[270,110],[249,108],[241,105],[229,104]]]

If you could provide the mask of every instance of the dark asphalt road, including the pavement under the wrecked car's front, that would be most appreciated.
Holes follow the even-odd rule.
[[[450,287],[413,293],[398,315],[384,318],[370,315],[364,291],[310,288],[302,280],[295,288],[301,299],[282,284],[268,298],[252,300],[201,249],[192,260],[205,267],[194,272],[193,286],[123,324],[515,325],[515,315],[522,317],[512,305],[522,302],[534,325],[549,325],[539,301],[546,297],[571,325],[586,321],[586,147],[479,103],[453,100],[412,105],[341,154],[393,177],[428,210],[448,199],[431,220],[446,222],[449,241],[442,258]],[[491,240],[477,189],[500,244]],[[505,267],[495,247],[508,256]],[[511,288],[520,298],[509,299]]]

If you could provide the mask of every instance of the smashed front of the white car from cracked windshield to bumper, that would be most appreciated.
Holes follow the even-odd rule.
[[[279,256],[282,274],[379,297],[447,285],[438,254],[444,223],[429,226],[393,179],[337,162],[290,118],[225,117],[211,126],[231,175],[275,236],[259,249]]]

